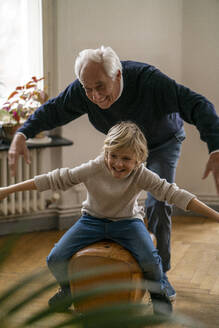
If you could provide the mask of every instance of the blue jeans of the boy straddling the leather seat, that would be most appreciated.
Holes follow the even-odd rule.
[[[90,215],[83,215],[55,244],[47,257],[48,267],[62,288],[69,288],[68,261],[72,255],[103,239],[113,240],[128,249],[139,263],[145,279],[156,281],[156,288],[162,293],[161,258],[144,222],[140,219],[111,221]]]

